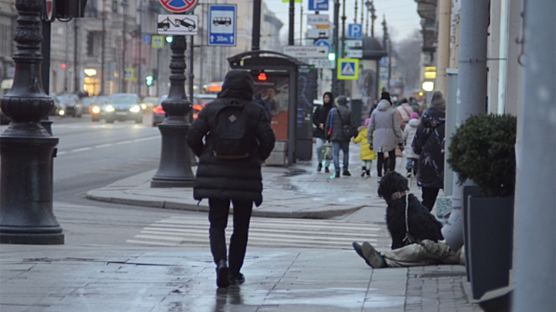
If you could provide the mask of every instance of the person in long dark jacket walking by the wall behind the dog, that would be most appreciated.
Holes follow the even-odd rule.
[[[419,154],[417,185],[423,191],[423,206],[435,206],[436,196],[444,188],[444,127],[446,100],[440,91],[433,92],[430,108],[423,113],[411,147]]]

